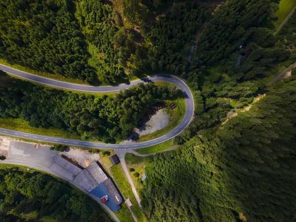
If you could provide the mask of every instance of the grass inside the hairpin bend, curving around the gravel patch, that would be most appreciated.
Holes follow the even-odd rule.
[[[161,82],[161,83],[155,83],[155,84],[160,85],[160,84],[171,84],[171,83],[162,83]],[[174,95],[172,97],[168,97],[168,98],[164,99],[163,101],[165,101],[166,104],[168,105],[168,107],[165,108],[165,111],[169,115],[169,124],[167,126],[165,126],[164,128],[157,130],[151,134],[140,136],[140,138],[137,140],[137,142],[144,142],[144,141],[152,140],[152,139],[155,139],[155,138],[158,138],[160,136],[167,134],[172,129],[174,129],[176,126],[178,126],[179,123],[184,118],[186,107],[185,107],[184,95],[181,91],[179,91],[177,95]],[[171,104],[172,102],[175,102],[177,105],[177,107],[174,110],[171,110],[169,108],[169,104]]]

